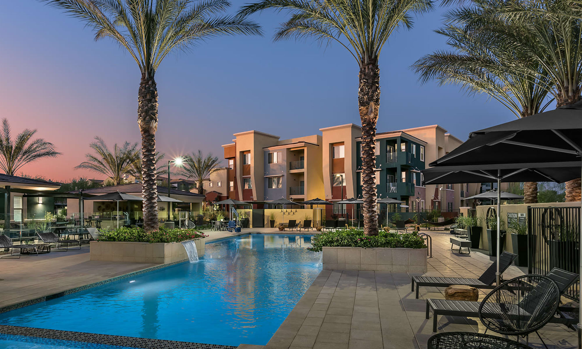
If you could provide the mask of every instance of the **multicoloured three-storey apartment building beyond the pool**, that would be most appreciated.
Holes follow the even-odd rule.
[[[320,135],[280,140],[251,130],[223,145],[228,197],[242,201],[316,197],[337,202],[361,198],[361,128],[343,124]],[[376,183],[379,198],[404,201],[410,209],[457,209],[480,184],[423,186],[421,170],[463,141],[439,125],[377,133]],[[420,200],[417,202],[416,198]]]

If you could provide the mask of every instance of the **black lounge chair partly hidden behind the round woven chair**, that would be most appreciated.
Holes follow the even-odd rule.
[[[560,294],[564,293],[567,289],[572,286],[574,282],[578,279],[578,274],[566,272],[566,270],[553,268],[551,272],[546,275],[548,279],[551,279],[558,286]],[[427,314],[426,318],[430,318],[430,311],[432,311],[432,332],[437,332],[437,316],[438,315],[450,315],[450,316],[463,316],[467,318],[477,318],[479,316],[479,307],[481,302],[474,301],[453,301],[453,300],[437,300],[429,298],[427,300]],[[487,311],[492,312],[492,307],[489,305]],[[573,308],[561,308],[558,307],[558,311],[573,311]],[[501,312],[501,308],[499,308]],[[488,314],[492,316],[495,314]],[[549,320],[552,323],[562,323],[563,325],[571,326],[577,323],[577,319],[566,319],[566,318],[556,318],[555,316]]]

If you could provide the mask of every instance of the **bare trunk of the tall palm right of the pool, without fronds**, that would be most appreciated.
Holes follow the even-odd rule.
[[[380,69],[375,62],[360,67],[358,107],[362,123],[362,196],[364,201],[364,233],[378,235],[376,204],[376,122],[380,106]]]

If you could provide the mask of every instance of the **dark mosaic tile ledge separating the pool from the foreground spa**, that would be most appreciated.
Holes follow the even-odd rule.
[[[0,333],[15,336],[68,340],[83,343],[105,344],[140,349],[235,349],[234,346],[218,344],[191,343],[184,341],[148,339],[140,337],[112,336],[111,334],[96,334],[63,330],[38,329],[34,327],[0,325]]]

